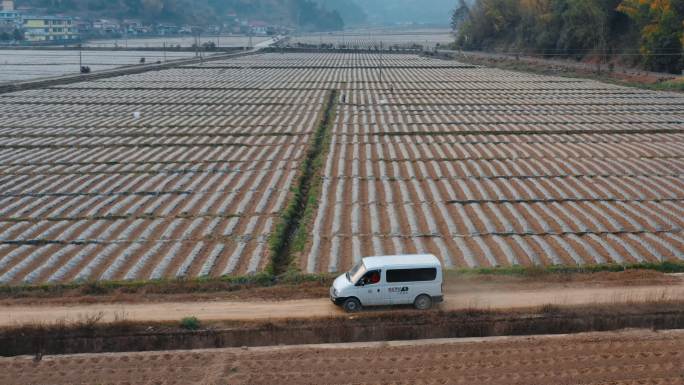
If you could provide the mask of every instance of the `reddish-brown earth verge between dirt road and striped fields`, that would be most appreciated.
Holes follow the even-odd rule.
[[[161,285],[121,287],[106,293],[92,293],[88,285],[73,289],[44,291],[9,291],[0,293],[0,306],[10,305],[68,305],[87,303],[141,303],[141,302],[192,302],[192,301],[284,301],[312,299],[328,296],[334,276],[321,277],[315,281],[297,284],[277,284],[260,287],[254,284],[229,285],[221,282],[206,284],[178,281]],[[684,276],[664,274],[654,270],[630,269],[620,272],[595,273],[547,273],[530,270],[525,276],[459,274],[447,271],[446,289],[453,292],[476,292],[479,290],[543,289],[553,285],[593,286],[647,286],[684,283]]]

